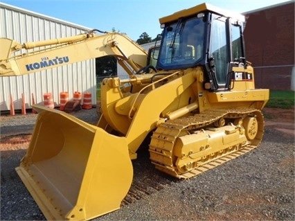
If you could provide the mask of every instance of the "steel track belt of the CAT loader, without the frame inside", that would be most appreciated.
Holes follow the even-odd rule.
[[[177,157],[174,155],[174,147],[179,137],[188,135],[201,128],[206,130],[208,125],[213,125],[213,123],[219,121],[221,118],[234,121],[238,118],[243,119],[245,116],[256,116],[258,121],[258,131],[254,139],[235,146],[226,147],[218,152],[211,152],[207,156],[202,157],[202,160],[194,162],[193,167],[185,172],[177,168],[175,165]],[[251,128],[245,129],[250,130]],[[253,150],[260,143],[263,132],[264,120],[262,113],[258,109],[211,109],[201,114],[177,118],[159,125],[153,133],[150,142],[150,160],[158,170],[174,177],[188,179]]]

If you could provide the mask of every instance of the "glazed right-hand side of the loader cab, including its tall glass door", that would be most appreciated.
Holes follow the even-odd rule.
[[[242,26],[233,23],[230,18],[213,14],[211,17],[211,35],[209,60],[213,61],[215,90],[230,90],[233,67],[244,60]]]

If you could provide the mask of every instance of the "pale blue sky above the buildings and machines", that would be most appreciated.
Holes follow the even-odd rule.
[[[142,33],[161,33],[159,18],[179,10],[210,3],[234,12],[248,12],[287,0],[0,0],[42,15],[87,28],[126,33],[136,41]]]

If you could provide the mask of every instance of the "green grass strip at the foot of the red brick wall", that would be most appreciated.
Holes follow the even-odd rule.
[[[271,90],[265,107],[290,109],[294,107],[294,91]]]

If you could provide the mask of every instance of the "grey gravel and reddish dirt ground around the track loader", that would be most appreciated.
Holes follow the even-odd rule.
[[[98,120],[95,109],[73,115]],[[34,123],[34,114],[1,116],[1,220],[45,220],[15,173]],[[295,220],[294,118],[291,133],[266,123],[259,148],[188,180],[155,170],[143,146],[121,209],[95,220]]]

